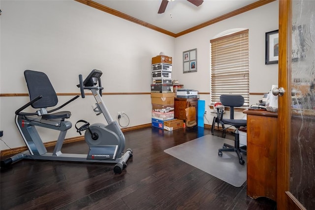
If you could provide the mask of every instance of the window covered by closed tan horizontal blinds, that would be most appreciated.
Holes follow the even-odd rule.
[[[220,102],[220,95],[243,95],[249,106],[249,40],[248,30],[210,40],[211,102]]]

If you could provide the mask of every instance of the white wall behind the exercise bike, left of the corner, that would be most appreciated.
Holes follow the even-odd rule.
[[[82,3],[1,0],[1,93],[28,93],[23,72],[43,71],[58,93],[79,93],[78,75],[94,68],[103,72],[103,92],[150,92],[151,58],[161,51],[174,55],[174,37],[150,30]],[[61,96],[60,104],[73,96]],[[0,97],[2,140],[11,148],[24,146],[14,123],[14,112],[28,97]],[[114,119],[124,111],[128,126],[151,122],[151,98],[146,95],[104,95]],[[79,98],[64,108],[72,113],[66,138],[78,136],[74,124],[95,116],[92,96]],[[126,121],[122,119],[122,125]],[[46,129],[47,130],[47,129]],[[42,135],[53,141],[57,135]],[[1,142],[1,150],[8,149]]]

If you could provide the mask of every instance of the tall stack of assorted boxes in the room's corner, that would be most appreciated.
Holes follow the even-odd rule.
[[[176,129],[177,125],[183,127],[174,120],[174,97],[172,57],[159,55],[152,58],[152,126],[166,130]],[[173,127],[170,127],[171,122]]]

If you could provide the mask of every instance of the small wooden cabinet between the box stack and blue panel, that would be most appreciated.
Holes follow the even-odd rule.
[[[196,108],[196,120],[198,119],[198,98],[175,98],[174,100],[174,116],[176,119],[186,121],[187,102]]]

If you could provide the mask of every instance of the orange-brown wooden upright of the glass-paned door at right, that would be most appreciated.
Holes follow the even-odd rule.
[[[291,138],[291,38],[292,0],[279,0],[279,87],[285,93],[278,97],[277,143],[277,209],[303,210],[301,203],[289,192]]]

